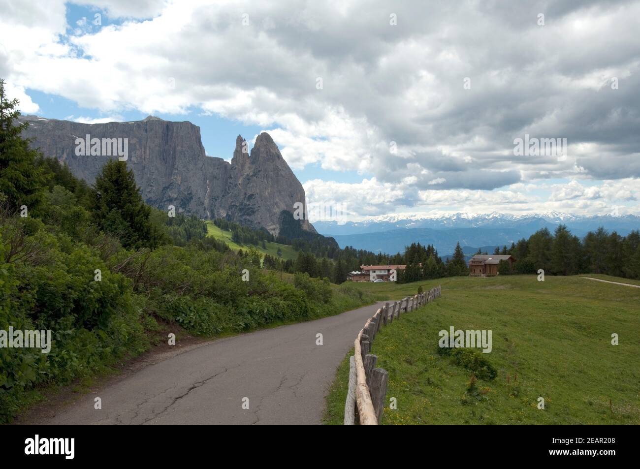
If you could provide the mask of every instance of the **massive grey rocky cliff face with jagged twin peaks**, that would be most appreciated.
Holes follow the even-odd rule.
[[[250,154],[238,136],[228,163],[205,155],[200,127],[191,122],[168,122],[152,116],[136,122],[97,124],[37,116],[22,116],[21,120],[29,122],[24,136],[33,139],[33,147],[67,163],[74,175],[89,184],[108,159],[118,156],[104,151],[77,155],[83,153],[76,151],[77,139],[90,136],[88,147],[95,138],[127,139],[127,166],[134,171],[143,198],[162,210],[175,205],[177,211],[200,218],[227,218],[278,234],[280,213],[293,212],[296,202],[305,203],[300,181],[266,133],[258,136]],[[308,221],[301,226],[316,232]]]

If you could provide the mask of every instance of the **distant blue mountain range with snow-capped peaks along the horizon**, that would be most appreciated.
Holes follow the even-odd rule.
[[[362,221],[315,221],[317,232],[332,236],[341,248],[396,253],[412,242],[433,244],[447,254],[453,252],[456,242],[461,246],[509,246],[523,237],[528,238],[541,228],[553,230],[566,225],[579,237],[589,231],[604,227],[627,235],[640,229],[640,216],[593,215],[582,216],[560,212],[545,212],[516,216],[511,214],[456,213],[443,216],[390,214],[367,218]],[[375,234],[375,235],[372,235]]]

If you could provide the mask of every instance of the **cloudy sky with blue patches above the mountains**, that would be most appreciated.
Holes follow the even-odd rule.
[[[0,0],[0,77],[227,160],[269,132],[342,219],[640,214],[638,31],[640,1]]]

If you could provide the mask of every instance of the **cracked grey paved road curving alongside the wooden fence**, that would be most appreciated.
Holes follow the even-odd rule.
[[[38,423],[320,424],[337,365],[382,304],[215,340],[87,394]],[[93,408],[95,397],[102,399],[100,410]],[[242,408],[244,397],[249,409]]]

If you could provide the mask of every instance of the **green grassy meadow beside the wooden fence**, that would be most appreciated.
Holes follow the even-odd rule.
[[[387,399],[397,398],[397,410],[385,408],[382,424],[640,424],[640,290],[580,276],[358,287],[384,299],[438,283],[442,298],[376,336],[372,353],[389,372]],[[463,399],[470,372],[436,354],[438,331],[449,326],[493,331],[493,351],[484,356],[499,374],[477,382],[480,401]],[[614,332],[618,346],[611,345]],[[342,422],[347,378],[348,362],[342,362],[327,399],[327,423]],[[545,398],[544,410],[538,397]]]

